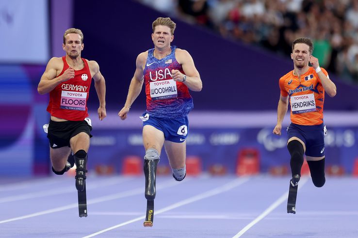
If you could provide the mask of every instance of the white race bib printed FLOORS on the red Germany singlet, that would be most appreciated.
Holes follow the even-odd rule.
[[[86,110],[87,92],[62,91],[60,108],[68,110]]]

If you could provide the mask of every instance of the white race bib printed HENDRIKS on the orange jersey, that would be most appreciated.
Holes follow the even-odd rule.
[[[316,111],[314,94],[305,94],[291,97],[291,110],[293,114]]]

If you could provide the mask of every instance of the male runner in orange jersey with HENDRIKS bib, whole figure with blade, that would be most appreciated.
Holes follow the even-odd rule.
[[[336,95],[336,85],[329,79],[325,69],[319,67],[312,56],[313,44],[309,38],[293,41],[291,59],[293,71],[279,79],[281,90],[277,106],[277,125],[274,134],[281,134],[282,120],[286,115],[289,99],[291,124],[287,129],[287,149],[291,155],[290,191],[287,212],[295,213],[298,181],[301,178],[303,155],[309,165],[312,182],[316,187],[325,184],[325,140],[327,133],[323,121],[325,92]],[[312,67],[309,67],[309,63]]]

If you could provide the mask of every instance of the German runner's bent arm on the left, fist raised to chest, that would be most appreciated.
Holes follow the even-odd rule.
[[[41,76],[40,83],[37,86],[37,91],[39,94],[43,95],[52,91],[62,82],[65,82],[71,78],[75,77],[75,70],[68,68],[65,70],[64,74],[56,77],[57,71],[60,70],[62,59],[53,57],[49,60],[44,74]]]

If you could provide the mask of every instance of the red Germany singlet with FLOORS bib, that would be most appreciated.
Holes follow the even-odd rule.
[[[82,59],[82,58],[81,58]],[[64,68],[60,75],[68,69],[66,57],[62,57]],[[47,111],[56,118],[80,121],[88,117],[87,100],[92,76],[86,59],[82,59],[84,67],[75,70],[75,77],[56,86],[49,92]]]

